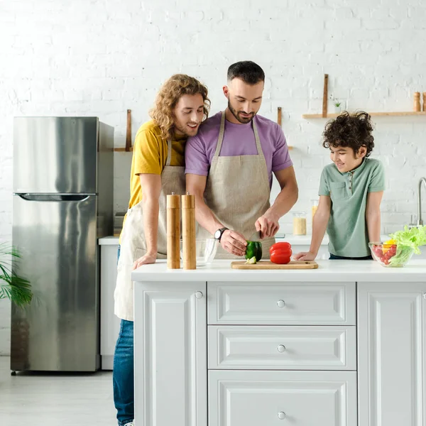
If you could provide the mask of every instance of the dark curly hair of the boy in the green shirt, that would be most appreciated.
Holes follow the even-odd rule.
[[[374,148],[374,138],[371,132],[371,116],[364,111],[357,111],[354,114],[344,111],[336,119],[329,121],[325,125],[324,148],[337,148],[337,146],[349,146],[358,153],[361,146],[367,148],[366,157],[371,154]]]

